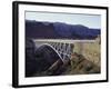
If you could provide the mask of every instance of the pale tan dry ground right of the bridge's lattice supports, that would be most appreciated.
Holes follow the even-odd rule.
[[[83,55],[87,60],[101,67],[101,44],[95,42],[74,43],[74,52]]]

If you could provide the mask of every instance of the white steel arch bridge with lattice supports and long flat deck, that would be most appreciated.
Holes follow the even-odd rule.
[[[37,47],[48,46],[57,52],[59,58],[70,60],[71,53],[73,52],[74,42],[94,42],[95,40],[52,40],[52,39],[39,39],[34,40]]]

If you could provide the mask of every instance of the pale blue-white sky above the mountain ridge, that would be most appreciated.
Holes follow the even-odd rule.
[[[26,11],[26,20],[65,22],[70,24],[83,24],[89,28],[101,28],[101,16],[99,14]]]

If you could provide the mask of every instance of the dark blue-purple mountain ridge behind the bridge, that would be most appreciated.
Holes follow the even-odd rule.
[[[34,39],[94,39],[100,29],[62,22],[26,20],[26,37]]]

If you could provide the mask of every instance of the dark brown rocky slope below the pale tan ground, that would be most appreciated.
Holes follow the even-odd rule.
[[[82,55],[75,53],[62,75],[100,73],[100,67],[87,60]]]

